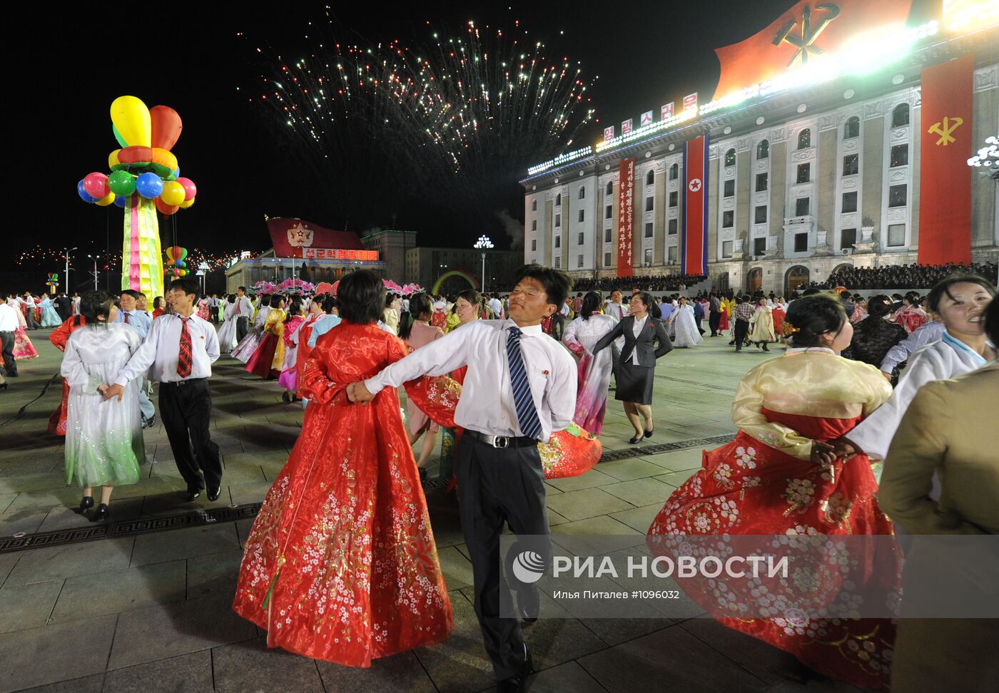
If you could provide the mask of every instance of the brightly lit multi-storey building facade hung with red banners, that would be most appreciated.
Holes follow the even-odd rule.
[[[712,101],[530,167],[524,262],[586,278],[703,268],[715,288],[786,293],[843,264],[996,261],[999,188],[966,160],[999,133],[999,9],[947,0],[914,24],[910,5],[799,2],[716,51]],[[684,145],[705,136],[691,178]]]

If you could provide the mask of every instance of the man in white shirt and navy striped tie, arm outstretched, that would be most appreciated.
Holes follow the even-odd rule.
[[[348,389],[352,401],[366,402],[384,387],[469,366],[455,411],[455,422],[465,428],[455,471],[476,614],[500,690],[523,690],[531,668],[519,623],[500,618],[500,590],[509,601],[500,533],[505,522],[517,534],[518,549],[536,551],[545,561],[550,556],[537,441],[572,421],[576,393],[575,361],[541,332],[541,320],[564,305],[571,281],[557,270],[528,265],[514,283],[509,320],[469,323]],[[517,591],[521,615],[532,622],[537,592],[522,584]]]

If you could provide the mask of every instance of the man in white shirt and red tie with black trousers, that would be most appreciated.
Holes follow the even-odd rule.
[[[152,366],[152,379],[160,382],[160,415],[170,440],[177,468],[187,482],[191,502],[208,488],[216,500],[222,489],[222,460],[212,441],[209,423],[212,396],[208,378],[219,357],[215,327],[198,317],[198,283],[179,279],[170,283],[165,297],[173,313],[153,321],[146,341],[119,371],[104,398],[121,401],[125,385]]]

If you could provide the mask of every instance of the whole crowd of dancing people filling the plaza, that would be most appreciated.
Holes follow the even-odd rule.
[[[521,626],[537,618],[539,597],[519,586],[519,618],[500,617],[510,585],[499,537],[508,527],[532,542],[521,548],[551,555],[538,445],[573,427],[603,434],[611,388],[633,428],[628,442],[652,438],[656,362],[675,348],[728,337],[735,351],[785,350],[739,382],[735,439],[706,450],[670,495],[647,532],[653,552],[663,537],[697,534],[999,532],[996,458],[988,443],[953,440],[959,427],[987,429],[999,391],[999,304],[989,280],[962,273],[926,296],[868,299],[812,287],[787,301],[635,288],[672,291],[700,279],[659,287],[632,278],[600,287],[605,295],[525,266],[505,295],[403,297],[358,271],[336,292],[320,285],[310,296],[253,297],[241,287],[222,298],[179,279],[152,311],[131,290],[31,303],[11,296],[0,304],[0,338],[6,374],[16,376],[18,358],[34,350],[30,326],[56,328],[64,385],[50,431],[66,436],[67,483],[82,489],[80,512],[95,521],[110,517],[115,486],[138,481],[143,428],[157,420],[151,382],[186,501],[202,492],[215,500],[222,487],[209,387],[222,354],[276,380],[287,404],[301,402],[302,433],[246,542],[234,609],[267,631],[270,646],[341,664],[370,666],[453,630],[421,490],[441,436],[486,650],[500,690],[523,690],[532,661]],[[861,288],[856,276],[840,279],[837,287]],[[941,430],[940,421],[953,425]],[[889,548],[859,559],[837,589],[897,596],[900,551],[878,545]],[[969,589],[980,584],[974,566],[955,567]],[[715,613],[716,595],[687,587]],[[961,621],[934,628],[820,615],[794,628],[779,616],[719,620],[874,690],[887,689],[889,676],[896,685],[970,681],[956,663],[969,652],[991,657],[999,635],[994,622],[962,630]]]

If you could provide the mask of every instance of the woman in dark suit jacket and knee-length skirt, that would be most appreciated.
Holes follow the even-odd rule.
[[[634,294],[630,315],[593,346],[595,354],[618,337],[624,338],[624,347],[614,362],[614,398],[624,402],[624,414],[634,426],[634,437],[628,439],[632,445],[652,436],[655,359],[673,348],[662,321],[648,314],[651,305],[652,297],[645,292]]]

